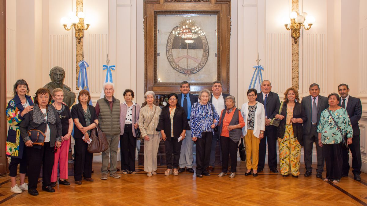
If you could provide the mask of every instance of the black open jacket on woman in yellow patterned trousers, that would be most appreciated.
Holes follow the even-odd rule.
[[[279,113],[279,107],[276,108],[273,115],[277,115]],[[287,104],[284,102],[283,109],[281,110],[281,115],[284,116],[284,119],[280,121],[279,127],[277,129],[277,137],[280,139],[283,139],[284,133],[286,132],[286,119],[287,119]],[[303,110],[301,103],[295,102],[294,108],[293,108],[293,118],[301,118],[303,122],[307,121],[307,115],[305,111]],[[297,138],[299,144],[303,146],[303,129],[302,129],[302,123],[292,123],[293,127],[293,135]]]

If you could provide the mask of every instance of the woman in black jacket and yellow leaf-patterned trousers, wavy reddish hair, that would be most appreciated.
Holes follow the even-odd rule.
[[[281,119],[277,129],[280,172],[283,177],[292,173],[297,178],[303,145],[302,123],[307,120],[307,116],[299,103],[297,89],[288,88],[284,96],[284,102],[274,111],[275,118]]]

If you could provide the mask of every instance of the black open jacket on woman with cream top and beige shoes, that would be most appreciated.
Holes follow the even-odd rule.
[[[173,115],[173,139],[177,139],[182,130],[190,130],[189,122],[187,120],[187,115],[183,107],[177,104],[175,113]],[[159,123],[157,125],[157,131],[164,130],[164,134],[167,136],[167,140],[171,140],[171,116],[170,116],[170,108],[166,106],[163,108],[160,117]]]

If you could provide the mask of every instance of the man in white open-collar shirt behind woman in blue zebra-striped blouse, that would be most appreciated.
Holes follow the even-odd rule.
[[[218,115],[221,115],[222,110],[226,108],[226,104],[224,102],[224,99],[229,94],[222,93],[222,82],[221,81],[214,81],[213,85],[211,87],[212,93],[209,102],[211,102],[215,110],[217,110]],[[207,168],[208,172],[213,172],[214,166],[215,166],[215,148],[217,147],[217,141],[219,142],[219,151],[221,152],[221,162],[222,162],[222,150],[221,150],[221,144],[219,140],[219,131],[214,132],[213,138],[211,140],[211,150],[210,150],[210,161],[209,166]]]

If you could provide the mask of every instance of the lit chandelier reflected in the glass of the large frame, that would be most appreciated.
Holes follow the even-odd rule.
[[[195,21],[191,19],[182,20],[179,27],[176,30],[173,30],[172,33],[183,38],[188,44],[194,43],[194,38],[205,34],[200,27],[195,25]]]

